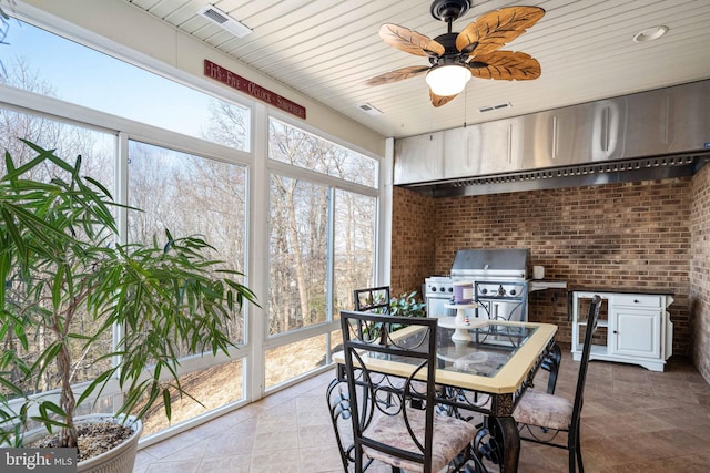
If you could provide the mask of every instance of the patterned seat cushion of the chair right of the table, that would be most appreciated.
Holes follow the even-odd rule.
[[[523,394],[513,415],[518,423],[566,430],[571,423],[572,403],[559,395],[530,389]]]

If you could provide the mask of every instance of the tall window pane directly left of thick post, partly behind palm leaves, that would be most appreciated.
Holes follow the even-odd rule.
[[[244,271],[245,166],[130,141],[128,195],[142,210],[129,212],[129,241],[166,241],[165,229],[174,237],[197,234],[226,269]],[[232,330],[232,341],[243,342],[242,317]]]

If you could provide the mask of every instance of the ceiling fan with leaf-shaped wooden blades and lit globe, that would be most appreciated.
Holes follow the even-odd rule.
[[[442,106],[458,95],[471,76],[529,81],[540,76],[540,63],[524,52],[500,51],[545,16],[539,7],[506,7],[481,14],[460,33],[452,23],[468,11],[469,0],[435,0],[432,16],[448,24],[448,31],[430,39],[408,28],[386,23],[379,37],[389,45],[428,56],[430,65],[413,65],[387,72],[366,82],[379,85],[427,73],[429,97]]]

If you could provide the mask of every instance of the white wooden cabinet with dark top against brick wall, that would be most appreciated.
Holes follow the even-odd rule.
[[[575,360],[581,358],[589,300],[599,295],[604,305],[590,359],[633,363],[651,371],[663,371],[673,349],[673,325],[666,310],[673,302],[672,296],[587,290],[571,294],[571,349]]]

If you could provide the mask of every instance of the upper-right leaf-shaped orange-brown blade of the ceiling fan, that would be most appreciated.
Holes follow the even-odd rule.
[[[489,54],[525,33],[545,16],[539,7],[507,7],[481,14],[458,37],[456,48],[466,54]]]

